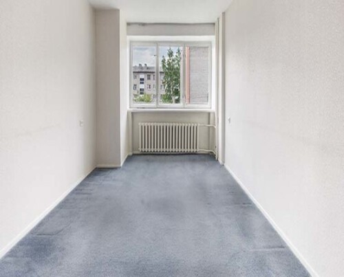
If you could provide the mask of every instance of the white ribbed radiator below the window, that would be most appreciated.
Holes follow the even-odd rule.
[[[200,124],[139,123],[139,148],[146,153],[196,153],[200,151]]]

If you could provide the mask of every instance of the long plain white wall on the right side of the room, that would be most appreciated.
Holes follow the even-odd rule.
[[[344,2],[226,11],[226,166],[312,274],[344,272]]]

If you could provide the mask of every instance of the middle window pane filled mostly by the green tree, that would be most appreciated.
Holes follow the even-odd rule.
[[[160,46],[160,104],[182,104],[182,45]]]

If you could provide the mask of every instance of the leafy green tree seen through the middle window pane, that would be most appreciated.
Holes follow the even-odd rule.
[[[180,103],[180,60],[182,60],[182,51],[177,49],[175,54],[169,48],[167,57],[162,56],[162,71],[164,71],[164,85],[165,93],[162,95],[162,102],[164,103]]]

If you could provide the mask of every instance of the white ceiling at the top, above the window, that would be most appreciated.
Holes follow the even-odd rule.
[[[127,22],[211,23],[232,0],[89,0],[95,8],[117,8]]]

